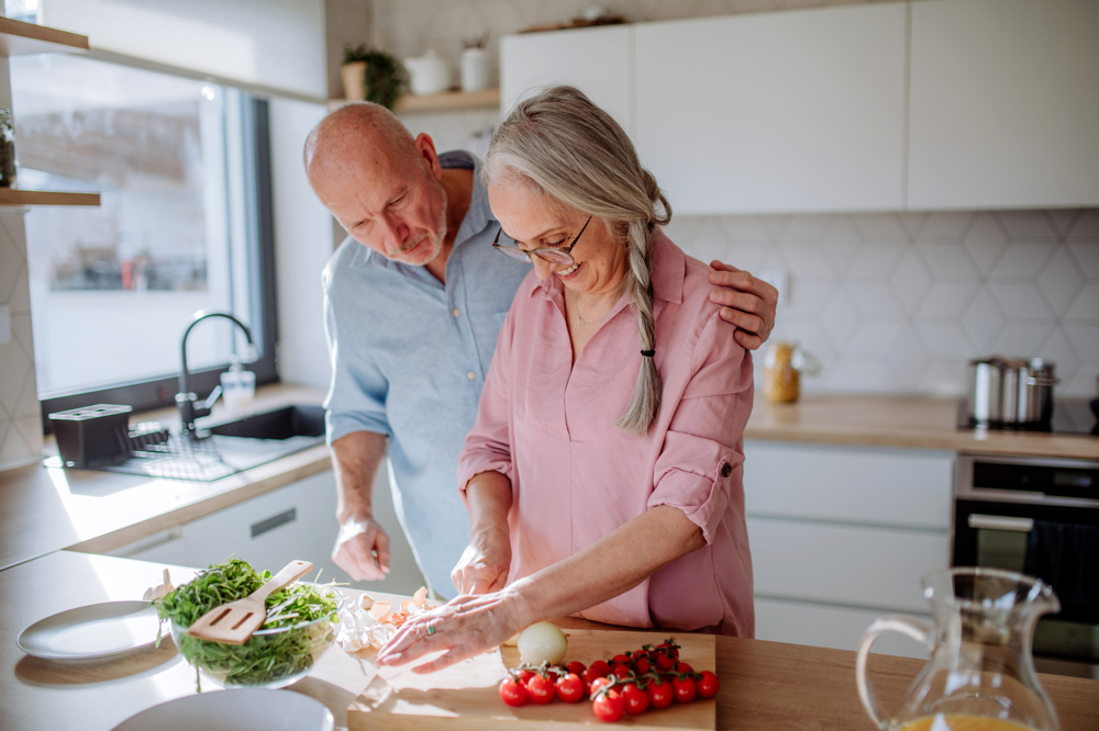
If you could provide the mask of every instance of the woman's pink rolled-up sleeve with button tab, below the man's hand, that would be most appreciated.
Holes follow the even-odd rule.
[[[752,369],[717,313],[702,327],[693,360],[693,375],[656,460],[648,507],[681,509],[710,543],[732,486],[742,483],[741,436],[748,414],[739,394],[752,386]]]

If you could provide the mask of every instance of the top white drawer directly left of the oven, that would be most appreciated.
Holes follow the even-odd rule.
[[[744,445],[750,516],[950,530],[954,453]]]

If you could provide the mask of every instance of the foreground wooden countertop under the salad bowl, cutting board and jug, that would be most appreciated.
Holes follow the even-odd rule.
[[[0,572],[0,718],[5,731],[113,728],[151,706],[195,693],[195,674],[170,638],[114,660],[62,663],[24,655],[19,632],[57,611],[98,601],[134,599],[159,583],[154,563],[60,551]],[[171,566],[179,584],[193,571]],[[354,593],[354,592],[352,592]],[[581,619],[564,627],[600,628]],[[855,691],[855,653],[795,644],[718,638],[718,728],[737,731],[798,729],[872,731]],[[332,709],[337,728],[357,695],[355,671],[337,649],[314,674],[291,686]],[[341,662],[344,661],[344,662]],[[896,708],[922,662],[875,655],[870,663],[884,708]],[[326,678],[326,679],[324,679]],[[1041,676],[1063,731],[1095,729],[1099,681]],[[362,689],[362,688],[359,688]]]

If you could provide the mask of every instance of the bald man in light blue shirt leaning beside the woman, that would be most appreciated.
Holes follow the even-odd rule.
[[[324,269],[333,375],[325,407],[338,491],[333,559],[355,580],[389,572],[389,537],[374,519],[374,476],[389,447],[393,502],[432,589],[456,594],[451,570],[469,539],[455,470],[497,335],[529,265],[500,256],[500,228],[466,153],[436,154],[388,110],[348,104],[306,142],[321,203],[351,235]],[[755,349],[777,293],[713,262],[730,337]]]

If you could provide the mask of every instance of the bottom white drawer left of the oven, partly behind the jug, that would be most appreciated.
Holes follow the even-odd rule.
[[[756,597],[756,639],[791,644],[808,644],[814,648],[835,650],[858,650],[863,632],[881,612],[865,609],[828,607],[781,599]],[[915,619],[929,627],[931,615],[912,612]],[[874,652],[901,657],[926,660],[926,649],[909,638],[887,632],[874,643]]]

